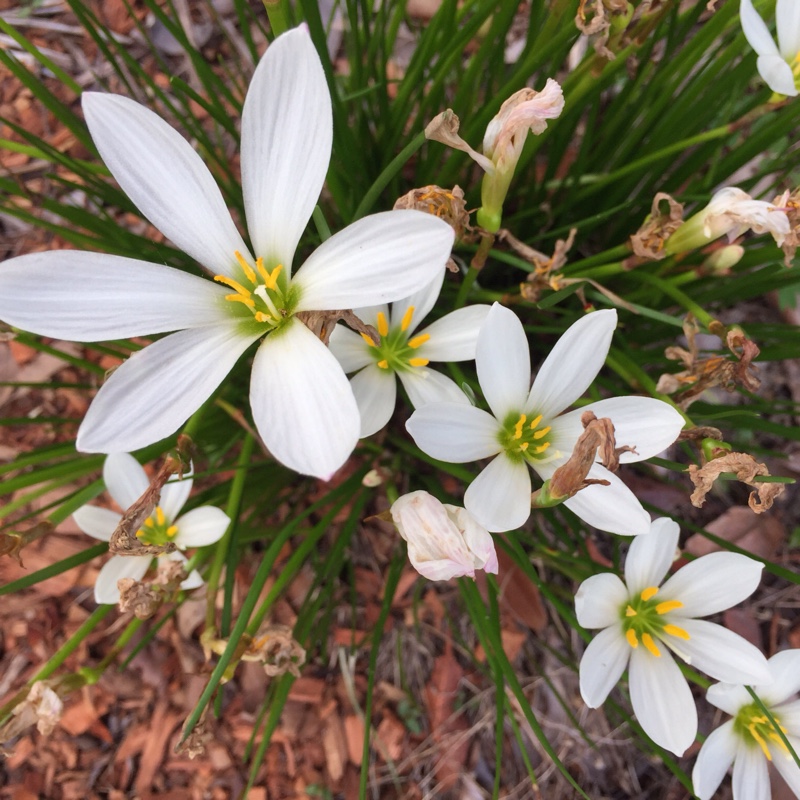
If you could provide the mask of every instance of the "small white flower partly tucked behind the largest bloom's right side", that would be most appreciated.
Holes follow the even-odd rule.
[[[478,331],[489,306],[460,308],[412,336],[433,308],[444,281],[444,270],[428,286],[392,304],[356,309],[357,316],[380,335],[376,345],[363,334],[337,325],[330,347],[345,372],[360,370],[350,379],[361,413],[361,436],[379,431],[392,416],[400,378],[415,408],[437,400],[468,402],[450,378],[428,368],[431,361],[475,358]]]

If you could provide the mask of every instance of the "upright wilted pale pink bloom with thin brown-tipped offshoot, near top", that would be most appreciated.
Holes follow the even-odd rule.
[[[564,94],[552,78],[547,79],[541,92],[520,89],[503,103],[486,126],[483,155],[458,135],[458,117],[452,111],[440,114],[425,129],[429,139],[467,153],[486,173],[481,183],[482,205],[478,210],[478,224],[490,233],[497,233],[500,229],[503,202],[528,132],[542,133],[547,120],[558,117],[563,109]]]

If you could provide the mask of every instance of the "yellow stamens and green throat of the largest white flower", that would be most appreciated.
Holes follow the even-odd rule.
[[[234,256],[242,271],[242,281],[227,275],[214,276],[215,281],[233,289],[232,294],[225,295],[225,300],[240,309],[243,319],[256,323],[265,332],[280,328],[297,305],[283,265],[278,264],[270,271],[264,266],[264,259],[259,257],[253,269],[238,250]]]

